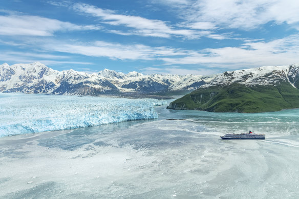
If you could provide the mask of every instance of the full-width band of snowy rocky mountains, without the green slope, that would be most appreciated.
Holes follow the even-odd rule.
[[[93,95],[116,93],[157,93],[191,91],[200,86],[241,83],[276,84],[280,80],[299,88],[299,65],[263,66],[227,71],[211,76],[127,74],[104,69],[98,73],[75,70],[56,71],[39,62],[0,65],[0,92],[48,93],[59,95]]]

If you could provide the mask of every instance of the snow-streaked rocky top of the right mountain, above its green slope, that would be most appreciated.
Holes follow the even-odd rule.
[[[280,81],[289,82],[299,88],[299,64],[286,66],[263,66],[244,70],[227,71],[216,75],[202,87],[230,85],[275,85]]]

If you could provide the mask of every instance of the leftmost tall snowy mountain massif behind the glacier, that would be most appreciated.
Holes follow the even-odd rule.
[[[119,89],[97,74],[56,71],[38,62],[0,66],[0,92],[48,94],[118,93]]]

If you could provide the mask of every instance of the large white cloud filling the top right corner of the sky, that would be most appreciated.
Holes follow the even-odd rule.
[[[163,2],[163,4],[167,3]],[[269,22],[286,23],[299,30],[299,2],[293,0],[194,0],[176,12],[187,27],[253,29]],[[175,7],[172,3],[170,7]],[[199,26],[200,27],[200,26]]]

